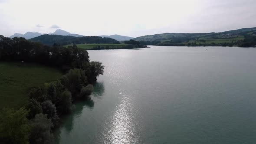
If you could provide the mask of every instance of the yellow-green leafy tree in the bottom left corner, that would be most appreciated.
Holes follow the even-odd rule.
[[[12,144],[29,144],[30,124],[27,116],[25,108],[17,111],[4,108],[0,114],[0,137]]]

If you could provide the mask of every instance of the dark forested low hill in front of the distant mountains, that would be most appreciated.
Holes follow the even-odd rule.
[[[41,35],[30,39],[30,41],[41,42],[44,45],[52,46],[58,44],[60,46],[68,44],[84,44],[84,43],[119,43],[112,38],[102,38],[100,36],[61,36],[61,35]]]

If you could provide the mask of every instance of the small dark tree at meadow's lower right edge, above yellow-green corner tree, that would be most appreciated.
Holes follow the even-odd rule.
[[[36,99],[34,98],[30,99],[29,105],[27,106],[27,108],[30,110],[28,115],[29,119],[32,119],[35,117],[36,114],[43,112],[40,103],[36,101]]]

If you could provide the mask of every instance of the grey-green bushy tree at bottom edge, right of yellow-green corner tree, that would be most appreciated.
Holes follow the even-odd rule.
[[[52,144],[54,137],[51,133],[53,123],[47,115],[37,114],[31,122],[31,144]]]

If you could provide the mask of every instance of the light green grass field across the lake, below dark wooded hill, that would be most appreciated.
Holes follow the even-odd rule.
[[[66,45],[64,47],[68,47],[68,46],[72,46],[72,45]],[[76,46],[78,48],[82,48],[82,49],[92,49],[92,48],[97,47],[97,46],[101,46],[101,47],[109,46],[109,47],[114,47],[115,49],[118,49],[118,48],[121,48],[123,46],[128,46],[128,44],[112,44],[112,43],[97,44],[97,43],[92,43],[92,44],[78,44]]]

